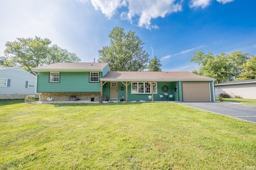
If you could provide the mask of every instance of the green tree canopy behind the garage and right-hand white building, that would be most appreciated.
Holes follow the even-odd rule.
[[[221,83],[238,77],[244,77],[244,79],[254,77],[252,71],[249,71],[252,70],[254,63],[250,58],[250,54],[241,51],[231,53],[231,55],[222,53],[215,56],[211,52],[206,54],[203,51],[196,51],[190,61],[201,66],[199,70],[192,71],[194,74],[212,77],[216,79],[216,82]],[[249,63],[250,66],[248,66],[249,61],[252,62]],[[247,70],[246,66],[248,66]]]

